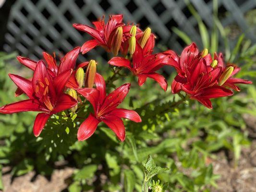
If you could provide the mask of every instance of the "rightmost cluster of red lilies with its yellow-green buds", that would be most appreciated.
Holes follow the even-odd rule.
[[[233,78],[240,68],[225,65],[221,53],[215,53],[213,60],[207,49],[200,52],[195,43],[184,48],[180,57],[171,50],[165,54],[172,58],[171,64],[178,73],[171,84],[172,93],[184,91],[207,108],[212,108],[211,98],[233,95],[227,87],[239,91],[236,84],[252,83]]]

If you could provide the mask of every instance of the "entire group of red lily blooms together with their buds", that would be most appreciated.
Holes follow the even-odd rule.
[[[96,46],[113,54],[108,62],[110,65],[127,68],[137,76],[139,86],[151,78],[166,91],[167,81],[157,71],[164,65],[174,67],[178,74],[171,84],[172,93],[184,91],[207,108],[212,108],[209,99],[231,96],[231,89],[239,91],[236,84],[252,83],[234,78],[240,68],[234,64],[225,65],[221,53],[216,53],[212,59],[207,49],[200,52],[194,43],[184,48],[181,56],[172,50],[153,54],[156,36],[151,29],[143,31],[134,24],[123,24],[122,15],[111,15],[107,24],[104,17],[93,24],[95,28],[73,24],[93,39],[86,41],[81,48],[69,51],[59,62],[55,54],[51,56],[46,52],[43,52],[44,60],[39,61],[18,56],[21,64],[34,71],[33,77],[9,76],[18,87],[15,96],[25,94],[28,99],[7,104],[0,108],[0,113],[39,111],[33,127],[35,136],[38,136],[52,114],[67,109],[75,113],[88,100],[94,112],[80,124],[78,140],[89,138],[98,123],[104,122],[123,141],[125,128],[122,118],[134,122],[141,122],[141,118],[134,110],[117,108],[128,94],[130,83],[121,85],[106,96],[106,83],[97,73],[97,62],[90,60],[77,64],[80,53],[85,54]]]

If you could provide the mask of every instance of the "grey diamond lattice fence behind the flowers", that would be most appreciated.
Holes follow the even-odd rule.
[[[211,28],[212,0],[191,0],[208,28]],[[256,29],[248,26],[244,14],[256,8],[256,0],[219,0],[219,12],[224,26],[235,24],[247,38],[256,42]],[[158,44],[176,51],[184,46],[171,31],[176,26],[200,44],[195,18],[183,0],[16,0],[12,5],[5,34],[4,50],[18,50],[21,55],[41,58],[42,51],[66,53],[81,46],[90,37],[72,27],[73,23],[90,24],[102,15],[122,13],[125,22],[150,26],[158,36]],[[254,26],[255,27],[255,26]],[[86,57],[101,55],[101,48],[92,50]]]

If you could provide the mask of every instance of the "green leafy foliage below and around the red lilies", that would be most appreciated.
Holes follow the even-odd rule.
[[[211,48],[213,53],[218,50],[219,38],[223,39],[225,59],[242,67],[239,78],[248,78],[255,83],[256,45],[251,45],[242,35],[231,50],[227,32],[218,23],[217,16],[214,20],[216,27],[207,32],[193,7],[189,6],[189,9],[197,19],[203,45]],[[173,31],[185,43],[191,42],[184,32],[177,28]],[[0,53],[0,105],[21,99],[13,96],[15,86],[7,76],[10,72],[22,72],[15,67],[15,56],[15,53]],[[110,66],[101,60],[98,63],[105,78],[113,75]],[[116,87],[132,82],[121,107],[135,109],[142,122],[125,121],[127,135],[123,143],[104,124],[100,124],[91,138],[78,142],[78,126],[74,122],[79,121],[80,113],[71,118],[67,117],[68,111],[53,116],[38,138],[32,133],[35,113],[0,114],[1,165],[11,166],[13,177],[31,170],[49,176],[56,168],[56,162],[65,160],[66,166],[76,168],[68,187],[70,192],[141,192],[142,185],[153,190],[156,183],[171,192],[207,192],[210,186],[218,187],[216,180],[220,176],[213,173],[211,165],[217,152],[232,151],[235,167],[241,148],[250,145],[252,138],[248,138],[243,116],[256,116],[255,85],[241,85],[240,93],[215,99],[210,110],[193,100],[183,102],[185,96],[172,95],[170,86],[164,92],[158,84],[148,80],[138,87],[134,77],[124,74],[126,71],[109,83]],[[174,75],[172,73],[168,78],[169,84]],[[87,105],[84,110],[91,108]],[[0,188],[3,188],[2,183]]]

